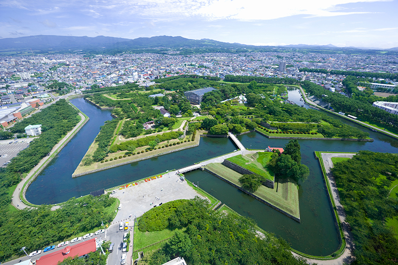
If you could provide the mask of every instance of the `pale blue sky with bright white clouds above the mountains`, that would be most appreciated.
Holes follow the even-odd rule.
[[[398,0],[0,0],[0,38],[160,35],[398,47]]]

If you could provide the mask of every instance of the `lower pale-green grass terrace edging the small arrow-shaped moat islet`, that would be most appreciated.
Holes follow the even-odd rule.
[[[224,177],[235,185],[241,186],[239,177],[242,175],[219,163],[208,164],[206,169]],[[261,185],[253,194],[295,217],[300,217],[298,188],[292,179],[275,183],[273,189]]]

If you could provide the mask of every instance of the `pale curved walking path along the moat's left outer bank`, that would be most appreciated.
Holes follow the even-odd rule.
[[[60,151],[60,150],[58,150],[58,148],[61,147],[66,141],[69,141],[69,140],[70,140],[69,137],[70,137],[71,135],[73,135],[75,132],[77,132],[78,130],[80,130],[80,126],[85,122],[85,118],[86,118],[86,117],[85,117],[82,113],[80,113],[80,112],[79,112],[79,116],[80,116],[82,119],[81,119],[81,120],[79,121],[79,123],[75,126],[75,128],[73,128],[69,133],[67,133],[67,134],[65,135],[65,137],[64,137],[58,144],[56,144],[56,145],[53,147],[53,149],[51,149],[51,152],[50,152],[50,155],[49,155],[49,156],[44,157],[44,158],[39,162],[39,164],[37,164],[37,165],[29,172],[29,174],[28,174],[26,177],[24,177],[24,178],[22,179],[21,182],[18,183],[18,185],[16,186],[16,188],[15,188],[15,190],[14,190],[14,193],[12,194],[12,199],[11,199],[11,204],[12,204],[15,208],[17,208],[17,209],[19,209],[19,210],[24,209],[24,208],[26,208],[26,207],[31,208],[31,206],[26,205],[25,203],[23,203],[23,201],[22,201],[21,198],[20,198],[20,193],[21,193],[21,189],[23,188],[23,185],[25,184],[25,182],[27,182],[27,181],[29,180],[30,177],[32,177],[34,174],[36,174],[36,171],[37,171],[38,169],[40,169],[40,167],[41,167],[44,163],[46,163],[47,160],[50,159],[51,155],[53,155],[54,153]],[[25,192],[26,192],[26,189],[27,189],[27,188],[28,188],[28,185],[25,186],[25,189],[24,189],[23,192],[22,192],[23,198],[24,198],[25,200],[26,200],[26,198],[25,198]],[[59,206],[53,206],[51,209],[52,209],[52,210],[55,210],[55,209],[57,209],[57,208],[59,208]]]

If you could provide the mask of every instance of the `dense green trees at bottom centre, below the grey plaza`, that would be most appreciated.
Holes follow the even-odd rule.
[[[306,264],[293,257],[283,239],[266,232],[259,237],[253,220],[214,212],[199,197],[151,209],[139,219],[138,229],[143,232],[178,229],[160,249],[146,253],[139,265],[161,265],[179,256],[192,265]]]

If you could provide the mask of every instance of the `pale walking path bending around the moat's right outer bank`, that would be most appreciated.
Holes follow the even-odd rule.
[[[340,203],[340,197],[338,194],[336,182],[334,181],[334,177],[330,172],[330,169],[333,168],[332,157],[352,158],[354,155],[355,154],[347,154],[347,153],[321,153],[321,159],[323,161],[323,165],[325,166],[327,180],[329,181],[329,186],[332,191],[334,204],[336,205],[341,227],[343,228],[344,237],[346,241],[346,248],[343,254],[337,259],[326,260],[326,261],[307,259],[307,262],[309,262],[310,264],[317,263],[319,265],[343,265],[343,264],[350,264],[355,260],[354,256],[352,255],[352,251],[355,248],[352,234],[349,229],[349,224],[345,221],[345,212],[343,206]],[[295,253],[293,253],[293,255],[298,256]]]

